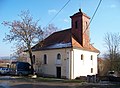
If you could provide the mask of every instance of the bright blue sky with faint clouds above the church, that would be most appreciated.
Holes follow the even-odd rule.
[[[40,19],[39,25],[45,27],[55,14],[68,0],[0,0],[0,56],[9,56],[13,53],[13,43],[3,42],[5,33],[9,29],[1,23],[3,21],[19,20],[21,11],[29,10],[34,20]],[[71,0],[68,5],[51,22],[60,29],[71,27],[70,16],[79,8],[92,17],[99,0]],[[102,0],[102,3],[90,24],[91,43],[101,53],[105,52],[105,33],[120,32],[120,0]]]

